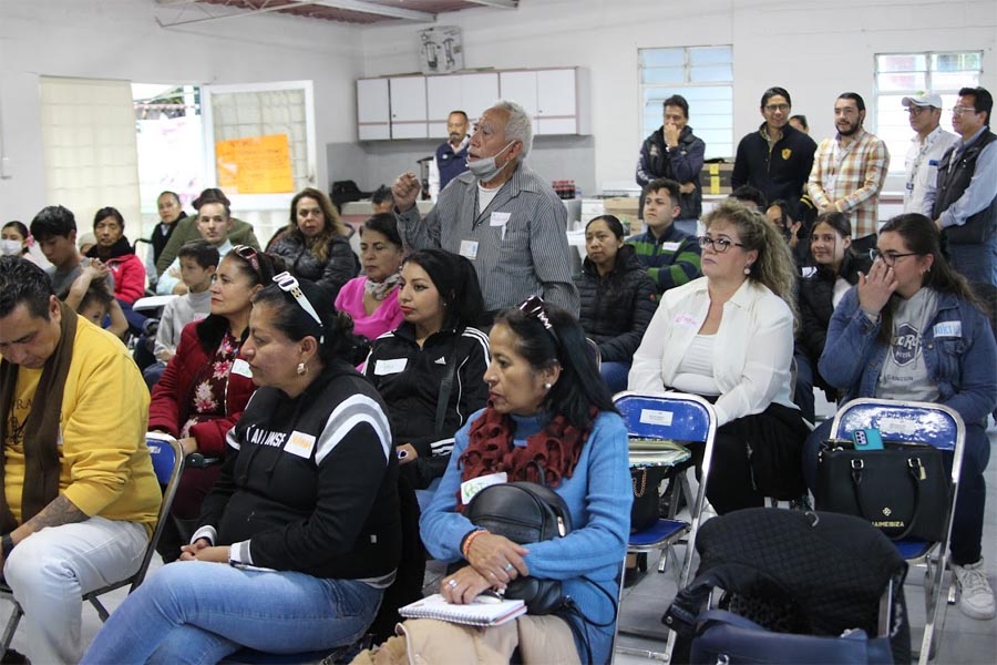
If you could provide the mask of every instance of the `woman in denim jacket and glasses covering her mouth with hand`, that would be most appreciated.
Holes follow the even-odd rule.
[[[834,309],[819,369],[846,391],[845,401],[876,397],[937,402],[966,423],[966,443],[952,526],[952,563],[959,610],[994,617],[994,592],[983,561],[990,459],[987,417],[997,405],[997,345],[966,279],[939,248],[938,229],[918,214],[900,215],[880,231],[868,275]],[[815,487],[818,450],[831,423],[819,427],[803,453]]]

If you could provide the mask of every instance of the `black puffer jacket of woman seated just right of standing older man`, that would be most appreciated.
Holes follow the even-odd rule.
[[[658,308],[655,283],[630,245],[620,247],[606,276],[588,258],[575,279],[582,298],[578,320],[606,362],[630,362]]]

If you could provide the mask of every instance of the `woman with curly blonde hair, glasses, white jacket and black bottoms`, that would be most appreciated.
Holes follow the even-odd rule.
[[[719,513],[798,499],[806,427],[790,397],[795,267],[758,211],[720,203],[705,218],[702,274],[669,289],[634,356],[628,387],[713,402],[707,497]],[[693,448],[693,452],[697,451]]]

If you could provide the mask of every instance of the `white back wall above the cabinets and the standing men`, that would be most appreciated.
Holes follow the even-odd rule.
[[[633,181],[640,141],[637,49],[731,43],[734,141],[761,122],[762,91],[782,85],[819,140],[834,98],[873,98],[873,54],[984,49],[981,85],[997,92],[993,0],[523,0],[516,11],[440,18],[463,31],[464,66],[578,65],[592,74],[596,182]],[[367,75],[411,72],[420,27],[363,31]],[[870,119],[872,120],[872,119]],[[696,126],[696,109],[690,110]],[[895,158],[903,158],[900,155]]]

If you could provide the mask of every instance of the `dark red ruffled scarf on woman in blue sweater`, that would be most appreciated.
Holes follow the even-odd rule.
[[[593,420],[597,415],[598,410],[593,408]],[[525,480],[556,488],[563,478],[574,473],[582,447],[592,431],[590,427],[579,430],[568,424],[564,416],[555,416],[547,427],[527,437],[526,446],[521,447],[513,443],[513,424],[511,417],[491,406],[471,424],[470,442],[459,460],[462,482],[505,471],[510,482]],[[458,508],[463,508],[460,499]]]

